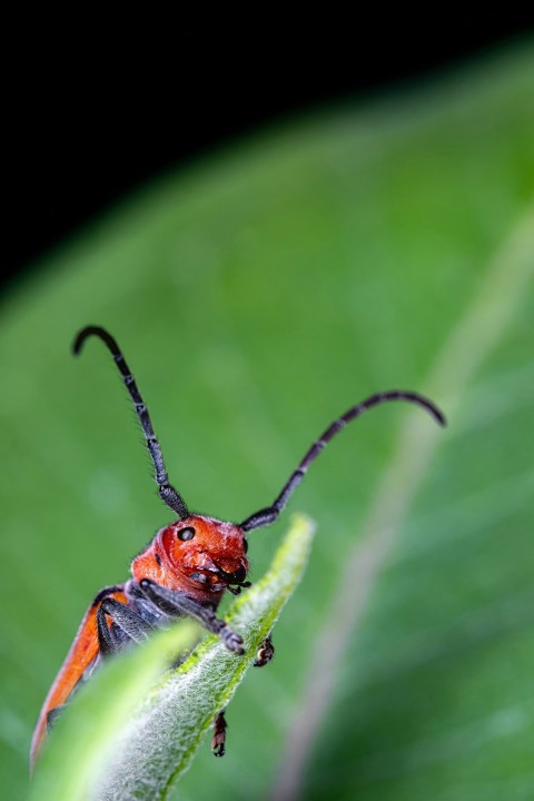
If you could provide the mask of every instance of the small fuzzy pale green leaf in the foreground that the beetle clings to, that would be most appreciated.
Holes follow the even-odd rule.
[[[295,517],[270,571],[233,604],[227,621],[244,637],[244,656],[211,635],[155,684],[195,639],[195,626],[180,623],[107,663],[49,738],[30,799],[167,798],[298,584],[313,531],[309,520]]]

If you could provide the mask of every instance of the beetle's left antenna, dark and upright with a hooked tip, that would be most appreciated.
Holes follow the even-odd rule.
[[[111,352],[115,358],[115,363],[125,380],[126,388],[128,389],[130,397],[134,400],[136,414],[139,423],[141,424],[142,433],[145,434],[145,439],[147,441],[148,452],[150,454],[150,458],[152,459],[154,469],[156,473],[156,483],[159,487],[159,497],[165,504],[167,504],[167,506],[169,506],[169,508],[176,512],[180,520],[185,520],[189,516],[188,508],[181,495],[175,490],[171,484],[169,484],[169,477],[165,468],[164,456],[161,454],[159,442],[157,441],[154,433],[152,423],[150,421],[148,409],[145,406],[139,389],[137,388],[136,379],[131,375],[130,368],[126,364],[126,359],[122,356],[122,353],[117,345],[115,338],[111,336],[111,334],[108,334],[108,332],[100,326],[87,326],[79,332],[73,342],[72,352],[75,356],[78,356],[81,353],[81,348],[83,347],[86,339],[88,339],[90,336],[99,337],[108,346],[108,349]]]

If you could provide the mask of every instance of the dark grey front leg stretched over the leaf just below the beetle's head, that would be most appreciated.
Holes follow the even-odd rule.
[[[172,616],[189,615],[199,621],[205,629],[212,634],[218,634],[225,643],[228,651],[237,654],[244,654],[243,640],[236,634],[225,621],[215,616],[215,612],[210,606],[202,606],[186,593],[176,592],[176,590],[167,590],[148,578],[139,582],[139,587],[145,595],[162,612]]]

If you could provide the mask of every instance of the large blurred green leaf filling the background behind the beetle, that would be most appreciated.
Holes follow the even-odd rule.
[[[314,465],[291,507],[319,531],[276,660],[231,704],[225,760],[206,744],[176,797],[268,798],[291,773],[314,646],[336,632],[358,537],[377,534],[393,454],[416,483],[362,625],[338,629],[334,695],[293,779],[317,800],[533,797],[533,201],[525,47],[170,175],[4,298],[6,798],[26,792],[32,728],[87,604],[169,520],[108,354],[70,356],[89,323],[117,336],[172,482],[214,516],[269,503],[375,390],[426,389],[451,417],[425,455],[425,439],[399,441],[416,412],[377,409]],[[250,536],[253,580],[284,526]]]

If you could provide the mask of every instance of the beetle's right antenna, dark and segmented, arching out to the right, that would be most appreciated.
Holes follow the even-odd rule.
[[[271,506],[266,506],[265,508],[259,510],[259,512],[255,512],[253,515],[247,517],[246,521],[240,523],[239,525],[243,531],[247,532],[251,531],[253,528],[259,528],[260,526],[274,523],[283,508],[286,506],[287,502],[289,501],[297,486],[303,481],[309,465],[312,464],[312,462],[315,462],[325,445],[327,445],[330,439],[347,425],[347,423],[350,423],[350,421],[359,417],[359,415],[362,415],[364,412],[367,412],[367,409],[373,408],[373,406],[378,406],[379,404],[386,403],[388,400],[407,400],[408,403],[422,406],[434,417],[437,423],[439,423],[439,425],[445,425],[445,416],[437,408],[437,406],[432,403],[432,400],[424,397],[423,395],[418,395],[417,393],[413,392],[404,392],[403,389],[390,389],[389,392],[383,392],[377,393],[376,395],[372,395],[365,400],[362,400],[362,403],[357,404],[356,406],[352,406],[348,412],[345,412],[344,415],[338,417],[330,426],[328,426],[325,433],[312,445],[296,471],[291,473],[288,482],[285,484],[283,491],[280,492],[274,504]]]

